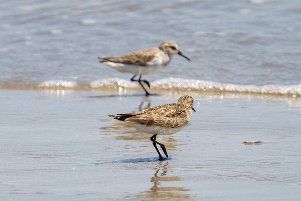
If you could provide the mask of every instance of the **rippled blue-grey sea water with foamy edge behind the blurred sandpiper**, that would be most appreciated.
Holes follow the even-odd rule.
[[[203,93],[213,84],[301,96],[300,0],[4,1],[0,8],[0,88],[137,90],[131,74],[97,57],[172,40],[191,61],[175,56],[160,73],[143,76],[157,93],[162,85]]]

